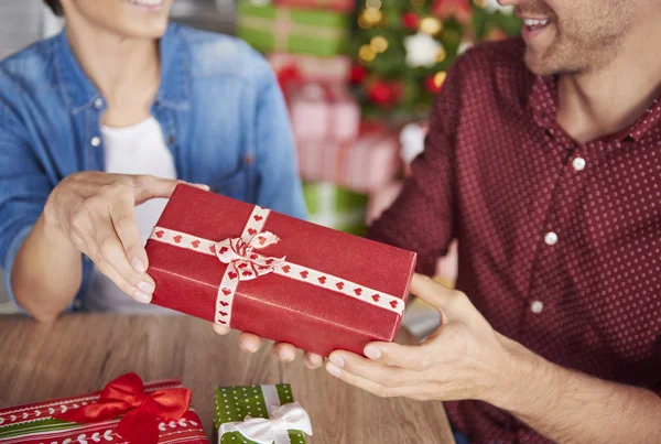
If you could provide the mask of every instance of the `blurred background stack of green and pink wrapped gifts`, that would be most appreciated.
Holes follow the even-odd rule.
[[[310,220],[354,235],[400,172],[397,132],[361,120],[346,55],[355,0],[242,0],[238,35],[270,61],[291,115]]]

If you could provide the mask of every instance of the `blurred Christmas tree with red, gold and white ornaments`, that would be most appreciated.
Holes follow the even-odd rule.
[[[512,12],[497,0],[360,0],[351,83],[365,117],[426,118],[458,54],[519,33]]]

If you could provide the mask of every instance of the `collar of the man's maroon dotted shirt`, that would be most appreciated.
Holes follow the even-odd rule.
[[[530,94],[533,118],[540,127],[564,133],[557,124],[557,77],[537,76]],[[661,95],[633,124],[609,139],[619,142],[630,139],[638,142],[659,121],[661,121]]]

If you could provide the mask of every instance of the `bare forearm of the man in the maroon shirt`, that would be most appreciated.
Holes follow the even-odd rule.
[[[509,342],[509,339],[506,339]],[[559,443],[661,442],[661,398],[546,361],[509,342],[514,356],[509,394],[494,400]]]

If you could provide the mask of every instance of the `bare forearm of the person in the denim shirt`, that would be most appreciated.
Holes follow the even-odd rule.
[[[54,321],[80,288],[80,252],[42,214],[17,255],[11,281],[21,307],[37,321]]]

